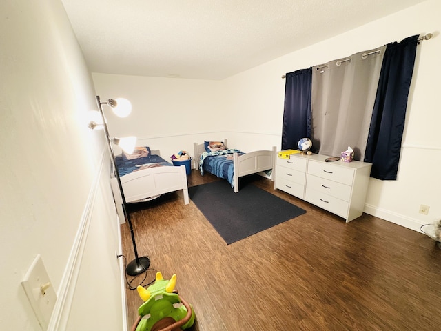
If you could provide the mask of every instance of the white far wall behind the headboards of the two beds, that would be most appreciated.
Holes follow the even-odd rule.
[[[193,154],[194,139],[225,137],[228,117],[219,93],[221,81],[98,73],[92,77],[102,100],[124,97],[132,103],[125,119],[105,106],[111,137],[135,135],[139,146],[161,150],[167,160],[180,150]]]

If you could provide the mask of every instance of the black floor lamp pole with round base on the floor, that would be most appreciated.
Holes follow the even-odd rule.
[[[110,140],[109,130],[107,129],[107,121],[105,119],[103,112],[103,104],[107,104],[107,102],[101,103],[101,99],[97,95],[96,103],[98,103],[99,112],[101,113],[101,117],[103,118],[104,132],[105,132],[105,137],[107,139],[107,147],[109,148],[110,157],[112,158],[112,165],[114,168],[114,174],[116,177],[116,181],[118,182],[119,191],[121,192],[121,199],[123,200],[124,216],[125,219],[127,220],[127,223],[129,224],[130,235],[132,236],[133,250],[135,253],[135,259],[127,264],[125,268],[125,272],[130,276],[136,276],[138,274],[142,274],[143,272],[147,271],[147,269],[150,267],[150,259],[148,257],[138,257],[138,250],[136,250],[136,241],[135,241],[132,220],[130,219],[130,214],[127,212],[127,203],[125,201],[123,185],[121,184],[121,179],[119,178],[118,169],[116,168],[116,159],[112,148],[112,141]]]

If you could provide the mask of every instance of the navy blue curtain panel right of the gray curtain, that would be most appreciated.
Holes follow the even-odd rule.
[[[397,179],[418,37],[389,43],[384,52],[364,160],[372,163],[373,178]]]

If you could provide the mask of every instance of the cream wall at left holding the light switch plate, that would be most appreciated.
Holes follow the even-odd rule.
[[[96,319],[122,330],[109,159],[85,122],[90,73],[61,1],[3,0],[0,12],[1,329],[40,330],[21,281],[41,254],[59,298],[52,330]]]

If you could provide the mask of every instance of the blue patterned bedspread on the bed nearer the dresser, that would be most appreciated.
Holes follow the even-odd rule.
[[[227,150],[217,150],[216,152],[203,152],[199,160],[199,171],[201,175],[204,172],[214,174],[216,177],[227,179],[228,183],[234,187],[234,169],[233,169],[233,154],[245,154],[230,148]]]

